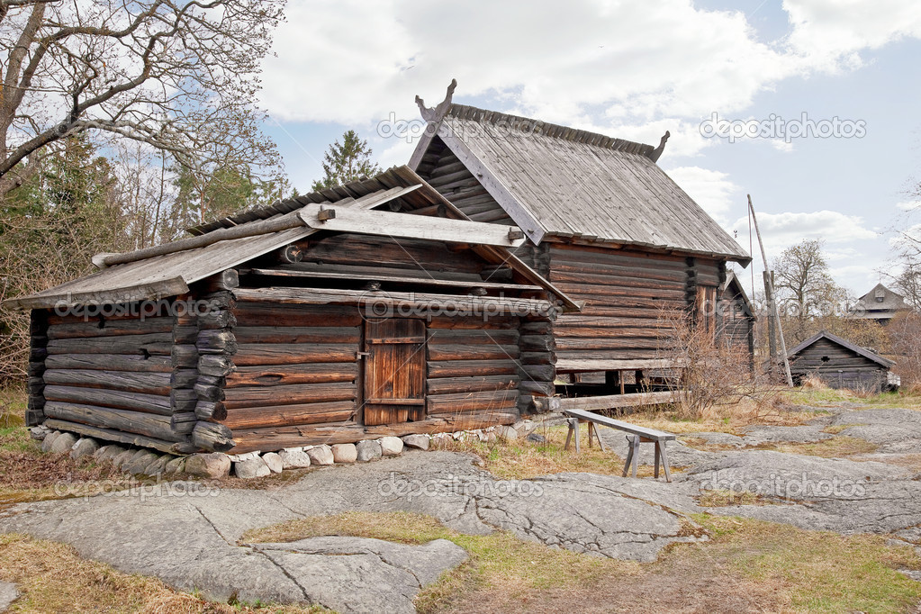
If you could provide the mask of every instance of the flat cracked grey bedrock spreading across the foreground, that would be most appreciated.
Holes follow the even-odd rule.
[[[344,537],[287,544],[245,544],[251,528],[351,510],[436,516],[470,534],[506,529],[523,539],[601,556],[654,561],[688,541],[687,515],[749,516],[809,529],[889,534],[921,543],[921,482],[897,464],[921,454],[921,412],[832,411],[805,426],[753,426],[744,436],[693,434],[726,446],[705,452],[670,446],[674,481],[562,473],[499,481],[468,455],[407,452],[402,457],[311,471],[269,491],[200,488],[172,482],[89,499],[22,504],[0,514],[0,531],[69,543],[88,559],[129,573],[157,576],[224,601],[307,602],[344,612],[410,612],[412,599],[438,574],[460,564],[464,550],[446,540],[408,546]],[[879,445],[860,461],[751,449],[806,443],[839,434]],[[622,457],[624,434],[601,429]],[[651,464],[651,446],[640,462]],[[910,457],[909,457],[910,458]],[[199,487],[196,490],[196,487]],[[748,490],[772,504],[707,507],[708,490]]]

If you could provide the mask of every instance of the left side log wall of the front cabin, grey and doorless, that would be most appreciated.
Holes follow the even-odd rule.
[[[109,318],[41,316],[48,354],[41,373],[43,416],[76,433],[192,451],[194,399],[174,384],[187,360],[176,348],[190,342],[194,348],[197,329],[167,302],[150,317],[136,305],[124,307]],[[33,311],[33,319],[41,313]]]

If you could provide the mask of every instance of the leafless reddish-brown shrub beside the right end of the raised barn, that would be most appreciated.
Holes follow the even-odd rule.
[[[679,393],[679,417],[701,418],[708,408],[738,406],[743,399],[758,397],[759,382],[747,347],[698,326],[683,310],[663,311],[659,330],[665,333],[659,338],[659,355],[683,365],[680,377],[668,379]]]

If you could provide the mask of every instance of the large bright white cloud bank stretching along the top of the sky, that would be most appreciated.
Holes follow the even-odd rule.
[[[916,0],[784,8],[789,36],[765,44],[740,11],[690,0],[572,0],[562,19],[550,0],[294,1],[265,62],[262,104],[282,121],[361,127],[391,111],[416,119],[414,94],[431,105],[457,77],[458,97],[620,135],[665,117],[738,112],[787,77],[857,66],[863,49],[921,36]]]

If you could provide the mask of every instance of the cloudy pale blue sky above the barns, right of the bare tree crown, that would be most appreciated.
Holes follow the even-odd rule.
[[[653,145],[669,130],[659,166],[743,247],[751,193],[769,259],[821,238],[858,295],[921,221],[917,0],[290,0],[274,52],[261,104],[300,191],[349,128],[406,163],[387,122],[453,77],[462,104]]]

